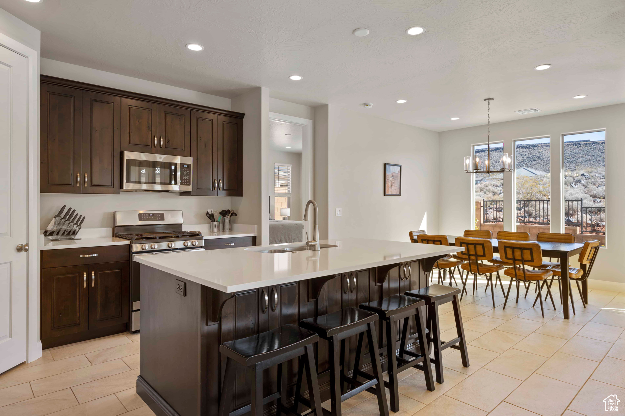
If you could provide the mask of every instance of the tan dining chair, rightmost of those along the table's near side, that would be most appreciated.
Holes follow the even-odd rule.
[[[538,243],[527,243],[524,241],[499,241],[499,256],[504,261],[512,263],[512,267],[507,268],[504,271],[506,276],[510,278],[510,284],[506,293],[506,301],[504,301],[503,309],[506,309],[508,297],[510,296],[510,289],[512,284],[516,283],[516,301],[519,302],[519,282],[524,281],[528,284],[536,283],[536,299],[532,307],[536,306],[536,302],[541,302],[541,314],[545,316],[544,309],[542,307],[542,288],[547,287],[547,293],[551,297],[551,303],[553,304],[553,310],[556,310],[556,302],[553,301],[551,296],[551,290],[547,284],[547,279],[550,278],[553,273],[549,270],[532,270],[527,267],[537,268],[542,264],[542,250],[541,245]],[[542,282],[542,286],[541,285]],[[529,289],[529,287],[528,287]],[[526,291],[527,295],[527,291]]]

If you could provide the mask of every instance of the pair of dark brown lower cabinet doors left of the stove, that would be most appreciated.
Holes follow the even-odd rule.
[[[128,320],[128,261],[42,269],[44,349],[124,332]]]

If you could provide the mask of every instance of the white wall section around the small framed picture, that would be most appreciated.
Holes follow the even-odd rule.
[[[327,125],[329,238],[409,241],[409,230],[437,232],[436,132],[334,105]],[[402,165],[401,196],[384,196],[385,162]]]

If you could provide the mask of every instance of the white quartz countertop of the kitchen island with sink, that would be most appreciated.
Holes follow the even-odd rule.
[[[135,261],[209,288],[232,293],[462,251],[461,247],[365,238],[326,239],[321,243],[337,247],[279,254],[257,251],[303,245],[272,244],[154,254],[138,257]]]

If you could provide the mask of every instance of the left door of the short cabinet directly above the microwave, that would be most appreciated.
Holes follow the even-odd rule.
[[[121,99],[121,150],[158,153],[158,104]]]

